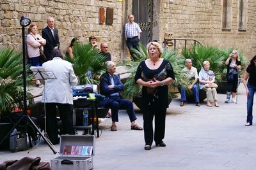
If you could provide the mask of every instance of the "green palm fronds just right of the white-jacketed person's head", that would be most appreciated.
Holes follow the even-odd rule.
[[[105,57],[90,43],[75,43],[73,59],[66,57],[73,64],[80,84],[99,84],[99,76],[106,71]],[[87,73],[92,73],[92,77]]]

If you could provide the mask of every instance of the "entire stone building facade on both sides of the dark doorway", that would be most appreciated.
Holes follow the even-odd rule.
[[[132,13],[135,0],[2,0],[0,2],[0,46],[21,49],[22,15],[39,25],[47,25],[46,18],[54,17],[59,29],[60,48],[65,51],[71,39],[88,41],[96,36],[106,41],[113,60],[120,62],[127,55],[124,24]],[[146,1],[146,0],[138,0]],[[256,2],[254,0],[147,0],[153,3],[152,39],[163,41],[166,32],[173,38],[196,39],[203,45],[234,47],[249,59],[256,54]],[[226,3],[225,3],[226,2]],[[241,3],[242,2],[242,3]],[[243,4],[244,13],[240,13]],[[225,6],[227,5],[227,6]],[[99,24],[100,10],[113,9],[113,24]],[[225,7],[225,8],[224,8]],[[147,6],[145,6],[147,8]],[[226,11],[223,27],[223,10]],[[243,16],[243,27],[239,27]],[[136,18],[135,18],[136,19]],[[227,22],[227,23],[226,23]]]

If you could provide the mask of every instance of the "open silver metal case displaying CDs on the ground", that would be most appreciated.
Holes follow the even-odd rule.
[[[95,136],[62,135],[60,138],[60,157],[51,159],[52,170],[93,169]]]

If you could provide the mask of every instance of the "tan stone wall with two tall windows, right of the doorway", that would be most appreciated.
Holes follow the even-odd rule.
[[[247,2],[246,31],[238,31],[239,0],[232,1],[230,31],[222,30],[221,0],[163,0],[161,1],[160,40],[164,32],[173,38],[196,39],[203,45],[234,47],[252,59],[256,54],[256,2]]]

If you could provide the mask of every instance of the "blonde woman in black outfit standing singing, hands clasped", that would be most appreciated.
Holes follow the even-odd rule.
[[[149,59],[138,66],[135,82],[142,85],[143,127],[145,150],[150,150],[154,141],[156,146],[166,146],[163,142],[165,131],[166,108],[168,108],[168,84],[174,81],[172,65],[162,59],[162,49],[159,43],[150,42],[147,45]],[[155,134],[152,121],[155,115]]]

